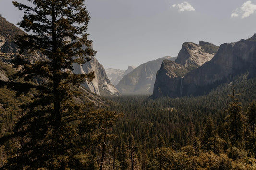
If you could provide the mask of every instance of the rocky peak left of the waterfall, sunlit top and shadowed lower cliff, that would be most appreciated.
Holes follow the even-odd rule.
[[[210,61],[219,48],[209,42],[185,42],[175,62],[164,61],[157,73],[152,98],[183,95],[183,77]]]

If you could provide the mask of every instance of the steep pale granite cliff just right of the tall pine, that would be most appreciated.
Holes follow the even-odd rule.
[[[73,72],[75,74],[85,74],[94,71],[95,78],[91,82],[85,82],[81,85],[100,96],[119,95],[119,91],[108,79],[103,65],[100,64],[95,57],[91,56],[90,58],[91,61],[86,62],[83,65],[73,65]]]

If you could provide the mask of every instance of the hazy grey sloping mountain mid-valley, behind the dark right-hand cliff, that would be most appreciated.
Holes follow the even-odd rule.
[[[125,75],[116,85],[122,94],[152,94],[156,79],[156,73],[161,67],[163,60],[175,60],[170,56],[159,58],[141,64],[132,72]]]

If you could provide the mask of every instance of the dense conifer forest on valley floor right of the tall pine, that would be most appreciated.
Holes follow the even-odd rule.
[[[109,130],[117,138],[108,161],[134,170],[255,169],[255,85],[244,74],[204,96],[110,98],[124,116]]]

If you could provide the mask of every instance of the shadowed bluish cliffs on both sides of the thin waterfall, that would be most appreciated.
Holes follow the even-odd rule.
[[[164,70],[165,67],[171,70],[173,68],[164,63],[162,67],[155,83],[153,98],[202,95],[221,83],[232,81],[234,76],[248,72],[249,76],[254,77],[256,73],[256,41],[248,39],[236,42],[234,45],[222,44],[210,61],[189,71],[184,76],[169,76],[168,83],[160,81],[161,77],[166,75],[161,70]]]

